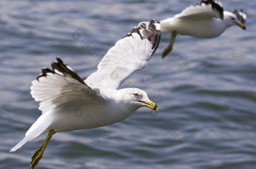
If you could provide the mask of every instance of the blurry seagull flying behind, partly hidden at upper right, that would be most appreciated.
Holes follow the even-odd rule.
[[[173,18],[161,20],[161,32],[171,33],[170,43],[162,53],[164,58],[172,50],[177,34],[196,38],[215,38],[232,25],[246,30],[246,13],[243,10],[224,11],[220,2],[202,0],[200,4],[191,5]]]

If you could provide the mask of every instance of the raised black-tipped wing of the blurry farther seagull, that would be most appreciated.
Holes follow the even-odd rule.
[[[220,2],[214,0],[202,0],[200,5],[191,5],[181,13],[174,16],[179,19],[211,19],[219,18],[223,20],[223,7]]]

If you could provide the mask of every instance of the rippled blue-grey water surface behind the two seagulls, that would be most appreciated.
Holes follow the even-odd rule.
[[[140,108],[98,131],[55,134],[37,169],[255,169],[256,1],[222,0],[244,9],[244,31],[218,38],[178,35],[165,59],[161,42],[148,66],[124,85],[144,89],[158,113]],[[27,169],[46,133],[14,153],[41,115],[31,81],[60,57],[82,78],[107,50],[144,20],[162,20],[200,0],[0,1],[0,168]],[[160,91],[155,90],[156,85]]]

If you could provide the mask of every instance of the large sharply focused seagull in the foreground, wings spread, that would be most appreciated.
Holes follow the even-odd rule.
[[[60,58],[52,63],[52,70],[43,68],[30,87],[32,97],[40,101],[42,115],[10,152],[48,131],[42,145],[31,156],[30,169],[33,169],[42,158],[48,141],[57,132],[114,124],[143,106],[158,111],[145,91],[120,86],[133,72],[146,66],[158,47],[160,29],[160,23],[154,20],[133,28],[108,50],[97,71],[85,80]]]

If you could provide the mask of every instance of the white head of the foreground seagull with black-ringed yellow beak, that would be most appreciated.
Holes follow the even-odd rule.
[[[140,107],[149,107],[155,111],[158,111],[156,103],[149,100],[145,91],[139,88],[123,88],[120,89],[120,97],[125,104],[132,106],[135,109]]]

